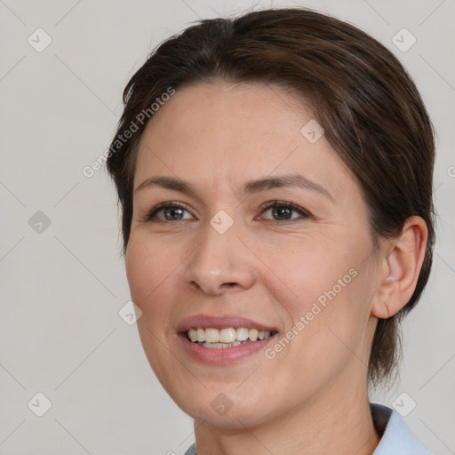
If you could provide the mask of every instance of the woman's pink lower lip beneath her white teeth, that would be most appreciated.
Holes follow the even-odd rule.
[[[192,343],[186,333],[179,333],[179,340],[181,346],[191,355],[195,360],[200,363],[209,365],[226,365],[228,363],[235,363],[245,357],[256,354],[263,350],[268,343],[273,341],[276,337],[272,335],[267,339],[258,339],[251,343],[244,343],[243,345],[235,347],[204,347],[196,343]]]

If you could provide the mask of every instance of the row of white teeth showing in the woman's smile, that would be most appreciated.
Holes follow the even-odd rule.
[[[247,329],[239,327],[234,329],[189,329],[187,331],[188,339],[193,343],[201,343],[204,347],[233,347],[243,344],[243,342],[257,341],[258,339],[267,339],[271,336],[270,331],[258,331],[257,329]]]

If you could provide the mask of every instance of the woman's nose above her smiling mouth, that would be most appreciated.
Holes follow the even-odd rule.
[[[202,240],[186,261],[185,283],[193,291],[212,296],[235,288],[236,291],[250,288],[256,279],[255,256],[235,225],[220,234],[207,223],[201,234]]]

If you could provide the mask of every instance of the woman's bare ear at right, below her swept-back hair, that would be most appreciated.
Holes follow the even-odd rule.
[[[411,299],[425,258],[428,229],[418,216],[408,218],[401,233],[383,243],[379,259],[381,281],[371,314],[387,319]]]

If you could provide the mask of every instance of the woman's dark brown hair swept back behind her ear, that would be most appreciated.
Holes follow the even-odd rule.
[[[108,172],[123,210],[124,252],[144,113],[151,118],[152,103],[170,90],[212,80],[277,84],[309,100],[325,137],[360,182],[376,239],[397,235],[412,215],[426,221],[427,250],[416,289],[397,315],[379,319],[375,331],[368,377],[379,384],[395,369],[398,323],[417,303],[432,264],[435,140],[415,84],[371,36],[307,9],[201,20],[172,36],[126,85],[124,113],[109,149]]]

